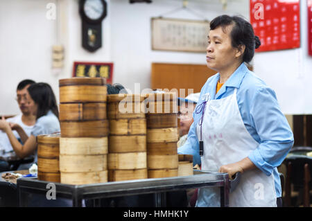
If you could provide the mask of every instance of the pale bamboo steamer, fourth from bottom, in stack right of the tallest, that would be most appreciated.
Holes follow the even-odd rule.
[[[113,135],[146,134],[146,118],[114,119],[109,125]]]

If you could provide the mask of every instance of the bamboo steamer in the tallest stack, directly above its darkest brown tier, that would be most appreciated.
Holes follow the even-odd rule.
[[[107,118],[106,103],[60,104],[60,121],[96,121]]]

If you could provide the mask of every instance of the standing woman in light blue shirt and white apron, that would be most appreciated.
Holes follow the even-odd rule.
[[[260,44],[241,17],[222,15],[211,21],[207,67],[218,73],[202,87],[187,142],[177,150],[193,154],[202,170],[229,177],[242,173],[239,190],[229,195],[230,206],[281,206],[277,166],[293,146],[275,91],[244,64]],[[223,85],[218,93],[217,84]],[[207,190],[198,192],[197,206],[218,206],[218,193]]]

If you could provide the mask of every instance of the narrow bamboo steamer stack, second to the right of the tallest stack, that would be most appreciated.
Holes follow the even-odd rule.
[[[176,177],[177,96],[173,93],[147,94],[148,178]]]

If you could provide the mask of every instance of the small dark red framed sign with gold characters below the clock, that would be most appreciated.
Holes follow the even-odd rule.
[[[106,78],[112,84],[113,63],[73,62],[73,77]]]

